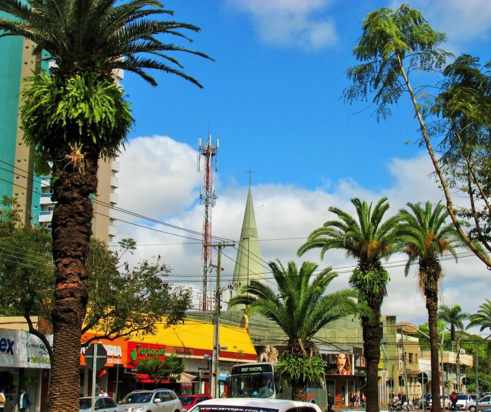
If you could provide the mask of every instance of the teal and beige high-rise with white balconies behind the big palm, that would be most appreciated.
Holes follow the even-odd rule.
[[[4,16],[0,13],[0,18]],[[50,57],[47,52],[33,56],[34,46],[20,36],[0,39],[0,197],[7,195],[17,200],[24,224],[40,223],[50,228],[55,208],[51,200],[51,176],[35,175],[34,148],[24,143],[20,118],[22,91],[27,87],[23,79],[32,72],[49,71],[53,65],[52,61],[42,61]],[[123,78],[122,73],[122,70],[115,73],[115,81]],[[119,185],[118,171],[116,160],[99,160],[92,231],[109,245],[116,235],[113,206],[118,203],[114,192]]]

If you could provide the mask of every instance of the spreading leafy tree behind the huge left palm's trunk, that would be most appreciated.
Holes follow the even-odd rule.
[[[10,200],[7,199],[6,202]],[[14,215],[16,208],[0,210]],[[6,233],[8,219],[0,219],[0,308],[5,314],[22,315],[29,332],[38,336],[53,357],[53,348],[46,337],[51,330],[40,329],[31,317],[52,323],[55,301],[55,270],[51,254],[51,233],[44,227],[18,225]],[[3,233],[3,235],[2,235]],[[180,322],[191,304],[191,290],[171,287],[165,282],[170,269],[160,256],[131,266],[125,260],[135,250],[133,239],[122,239],[119,253],[111,253],[107,245],[95,238],[86,260],[91,276],[88,280],[88,310],[81,335],[88,331],[97,337],[85,337],[78,346],[87,346],[101,337],[153,335],[156,324],[167,318],[168,324]],[[80,352],[80,350],[79,350]]]

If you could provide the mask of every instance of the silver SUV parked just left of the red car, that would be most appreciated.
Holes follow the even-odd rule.
[[[182,412],[181,401],[170,389],[134,390],[118,404],[119,412]]]

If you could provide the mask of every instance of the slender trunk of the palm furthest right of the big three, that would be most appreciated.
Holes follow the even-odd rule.
[[[438,325],[436,312],[438,310],[438,273],[441,273],[440,264],[436,259],[420,259],[420,279],[425,279],[424,293],[426,309],[428,310],[428,329],[430,332],[430,360],[431,360],[431,396],[432,412],[441,412],[440,379],[438,362]]]

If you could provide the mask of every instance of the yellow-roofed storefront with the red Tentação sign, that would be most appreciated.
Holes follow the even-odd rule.
[[[85,334],[87,340],[93,334]],[[127,340],[128,339],[128,340]],[[117,338],[112,341],[101,339],[108,352],[108,362],[103,370],[97,372],[96,389],[104,388],[113,399],[121,400],[136,389],[149,389],[155,383],[148,376],[138,373],[136,364],[139,359],[175,354],[184,364],[184,373],[176,383],[162,382],[159,387],[167,387],[177,394],[198,394],[209,392],[210,360],[213,352],[213,324],[194,319],[186,319],[184,324],[165,327],[157,325],[155,335]],[[95,342],[94,342],[95,343]],[[245,328],[220,325],[219,378],[220,393],[224,389],[224,380],[231,366],[241,362],[256,360],[256,353]],[[85,365],[81,351],[81,393],[88,395],[92,374]]]

